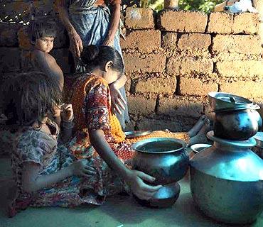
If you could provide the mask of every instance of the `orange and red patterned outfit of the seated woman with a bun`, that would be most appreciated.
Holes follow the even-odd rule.
[[[120,160],[125,162],[134,155],[132,143],[145,138],[168,137],[178,138],[189,142],[188,133],[172,133],[169,131],[154,131],[150,135],[134,139],[126,139],[117,117],[112,114],[109,86],[105,79],[94,74],[82,74],[73,84],[75,89],[69,103],[73,104],[75,115],[75,143],[70,150],[75,157],[98,156],[92,148],[89,138],[90,131],[98,129],[104,132],[104,138]],[[93,150],[87,153],[87,148]]]

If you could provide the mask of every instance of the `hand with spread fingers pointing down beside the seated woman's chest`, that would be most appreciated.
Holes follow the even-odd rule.
[[[116,111],[118,114],[122,114],[121,109],[125,109],[125,106],[127,102],[125,101],[124,97],[122,96],[121,92],[119,92],[119,89],[117,89],[114,84],[109,85],[110,89],[110,96],[112,99],[112,109],[113,111]]]

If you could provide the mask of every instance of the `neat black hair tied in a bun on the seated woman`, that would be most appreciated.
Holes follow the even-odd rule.
[[[112,61],[112,69],[117,72],[124,72],[124,63],[122,56],[117,50],[107,45],[97,47],[96,45],[89,45],[81,52],[81,60],[85,64],[88,72],[92,72],[96,67],[104,70],[107,62]]]

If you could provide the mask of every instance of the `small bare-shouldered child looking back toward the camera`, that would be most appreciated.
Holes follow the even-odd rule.
[[[31,52],[31,63],[35,70],[44,72],[58,80],[61,91],[63,90],[63,72],[58,66],[55,58],[49,54],[53,49],[56,36],[55,23],[52,21],[36,20],[30,25],[30,37],[33,44]]]

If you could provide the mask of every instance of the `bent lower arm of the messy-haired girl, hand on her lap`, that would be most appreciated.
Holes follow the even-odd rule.
[[[35,162],[24,162],[22,170],[22,186],[26,192],[36,192],[39,189],[52,187],[54,184],[73,175],[90,177],[96,174],[93,167],[87,165],[87,160],[78,160],[73,165],[58,170],[50,175],[39,175],[41,166]]]

